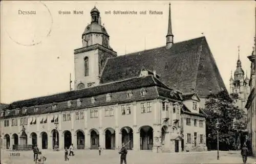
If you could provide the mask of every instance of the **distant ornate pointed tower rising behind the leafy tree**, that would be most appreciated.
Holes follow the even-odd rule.
[[[241,61],[240,61],[240,50],[238,50],[238,61],[237,61],[237,69],[234,71],[234,79],[231,77],[229,79],[230,85],[230,94],[237,93],[238,94],[238,101],[236,105],[247,113],[245,108],[245,104],[249,95],[249,79],[246,72],[246,78],[244,78],[244,71],[242,69]]]

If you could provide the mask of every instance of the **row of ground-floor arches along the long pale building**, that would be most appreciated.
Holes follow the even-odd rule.
[[[69,148],[71,144],[75,149],[119,149],[124,143],[130,150],[153,150],[153,151],[182,151],[182,138],[168,131],[167,126],[156,130],[152,126],[141,126],[139,128],[125,126],[122,128],[105,128],[90,130],[58,130],[31,132],[26,134],[28,145],[37,145],[39,149]],[[173,138],[173,140],[172,140]],[[20,137],[17,133],[4,135],[3,146],[12,149],[12,145],[19,145]]]

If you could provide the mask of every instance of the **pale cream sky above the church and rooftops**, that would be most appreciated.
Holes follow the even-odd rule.
[[[169,2],[174,42],[205,36],[228,90],[240,46],[242,68],[250,76],[247,56],[254,45],[254,1],[2,1],[1,103],[70,89],[70,74],[74,81],[74,49],[82,46],[81,35],[91,23],[94,6],[110,35],[111,47],[118,55],[124,55],[165,45]],[[74,10],[82,14],[74,14]],[[150,10],[162,14],[152,15]],[[137,14],[113,14],[114,11]]]

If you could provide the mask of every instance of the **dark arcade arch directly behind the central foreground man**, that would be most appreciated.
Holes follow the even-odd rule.
[[[133,149],[133,129],[130,127],[121,128],[122,143],[126,144],[126,148]]]

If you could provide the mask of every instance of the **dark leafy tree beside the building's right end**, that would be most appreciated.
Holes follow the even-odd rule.
[[[210,149],[217,149],[217,120],[220,123],[220,149],[237,149],[239,132],[246,128],[245,113],[234,103],[237,99],[237,95],[229,96],[226,91],[207,96],[204,111],[207,114],[206,135]]]

